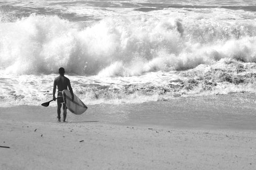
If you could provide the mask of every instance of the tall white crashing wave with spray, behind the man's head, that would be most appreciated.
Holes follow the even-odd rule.
[[[255,62],[254,23],[127,16],[80,27],[58,16],[0,23],[0,67],[50,74],[60,66],[104,77],[193,69],[221,58]]]

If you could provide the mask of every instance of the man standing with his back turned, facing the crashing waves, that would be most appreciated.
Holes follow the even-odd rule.
[[[73,90],[70,85],[70,81],[68,78],[66,78],[64,76],[64,73],[65,73],[65,69],[63,67],[60,67],[60,69],[59,69],[60,76],[55,78],[54,83],[53,83],[53,92],[52,92],[53,100],[55,101],[56,100],[55,93],[56,93],[56,86],[57,86],[58,87],[57,113],[58,113],[58,121],[59,122],[60,122],[60,112],[61,112],[60,109],[61,109],[62,104],[63,104],[63,122],[66,121],[66,116],[67,116],[67,108],[63,101],[62,91],[69,89],[70,94],[72,95],[72,100],[74,100],[74,94],[73,94]]]

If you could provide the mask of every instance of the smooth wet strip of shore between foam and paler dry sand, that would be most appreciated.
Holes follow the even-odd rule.
[[[256,130],[255,95],[187,97],[142,104],[89,105],[82,115],[68,111],[68,123],[99,122],[127,126]],[[56,107],[0,107],[2,120],[57,123]],[[62,115],[61,115],[62,117]]]

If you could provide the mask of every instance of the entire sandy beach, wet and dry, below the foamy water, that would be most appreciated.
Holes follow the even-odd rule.
[[[131,106],[89,106],[81,116],[68,112],[67,123],[57,123],[55,107],[2,107],[0,146],[10,148],[0,148],[0,169],[256,168],[248,94]]]

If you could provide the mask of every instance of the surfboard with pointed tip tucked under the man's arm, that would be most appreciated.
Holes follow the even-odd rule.
[[[72,101],[72,95],[68,90],[62,91],[62,97],[69,111],[74,113],[75,115],[81,115],[88,108],[87,106],[85,106],[83,101],[80,100],[75,94],[74,100]]]

